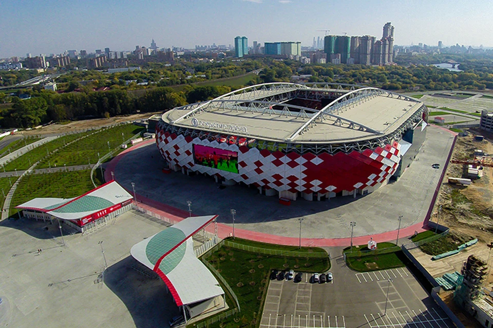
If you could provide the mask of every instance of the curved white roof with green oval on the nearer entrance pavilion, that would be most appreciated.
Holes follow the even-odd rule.
[[[189,217],[135,244],[130,254],[156,272],[178,306],[224,294],[218,281],[195,256],[192,237],[215,216]]]

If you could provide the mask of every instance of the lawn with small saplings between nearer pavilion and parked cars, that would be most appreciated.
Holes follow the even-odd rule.
[[[236,238],[236,243],[252,245],[250,241]],[[274,244],[255,243],[255,247],[286,250]],[[325,252],[319,248],[311,248],[306,252]],[[325,252],[326,253],[326,252]],[[327,254],[327,253],[326,253]],[[272,269],[295,270],[303,272],[325,272],[330,268],[328,255],[324,259],[306,257],[269,256],[221,247],[207,258],[214,268],[231,286],[238,298],[241,312],[226,318],[221,323],[210,327],[258,327],[263,308],[263,300],[267,292],[269,274]],[[231,304],[234,306],[234,304]]]

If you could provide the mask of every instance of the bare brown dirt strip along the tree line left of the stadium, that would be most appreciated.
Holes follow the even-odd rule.
[[[67,124],[58,124],[58,123],[51,124],[39,129],[19,131],[17,133],[25,136],[31,136],[31,135],[45,136],[45,135],[53,135],[53,134],[63,134],[68,132],[84,131],[90,128],[110,126],[125,121],[134,121],[136,119],[149,118],[151,115],[159,114],[159,113],[160,112],[134,114],[127,116],[116,116],[110,118],[85,119],[80,121],[71,121]]]

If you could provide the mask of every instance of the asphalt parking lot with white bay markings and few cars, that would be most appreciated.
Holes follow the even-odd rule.
[[[356,273],[332,262],[331,282],[271,280],[260,327],[453,327],[407,268]]]

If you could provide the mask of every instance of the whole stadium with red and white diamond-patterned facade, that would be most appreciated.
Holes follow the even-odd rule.
[[[425,140],[428,110],[388,90],[269,83],[165,112],[169,170],[244,183],[281,200],[365,195],[398,178]]]

